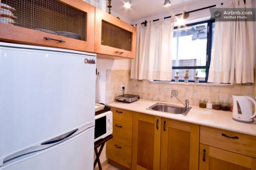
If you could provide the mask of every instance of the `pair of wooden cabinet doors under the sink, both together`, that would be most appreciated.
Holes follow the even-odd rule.
[[[196,170],[200,126],[134,114],[132,169]]]

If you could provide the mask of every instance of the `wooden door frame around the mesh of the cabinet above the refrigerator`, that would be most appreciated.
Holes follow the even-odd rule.
[[[41,45],[49,47],[66,48],[78,51],[94,52],[94,20],[95,7],[81,0],[58,0],[63,4],[74,7],[87,13],[87,41],[58,36],[32,29],[0,23],[0,40],[6,42]],[[1,2],[1,1],[0,1]],[[44,37],[61,39],[65,42],[46,40]]]

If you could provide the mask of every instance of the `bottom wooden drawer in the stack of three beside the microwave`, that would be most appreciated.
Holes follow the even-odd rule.
[[[106,157],[129,169],[132,167],[132,148],[114,139],[106,142]]]

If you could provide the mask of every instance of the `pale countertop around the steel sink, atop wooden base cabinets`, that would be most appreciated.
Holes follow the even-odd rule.
[[[198,106],[191,106],[192,108],[188,112],[188,114],[186,116],[182,116],[146,109],[147,107],[150,107],[157,102],[158,101],[140,99],[139,101],[133,103],[112,102],[108,103],[107,106],[256,136],[256,124],[245,124],[237,122],[232,119],[232,112],[213,109],[202,109]],[[182,106],[180,104],[174,105]]]

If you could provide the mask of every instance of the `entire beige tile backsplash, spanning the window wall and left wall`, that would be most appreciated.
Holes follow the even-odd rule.
[[[106,70],[106,103],[113,102],[115,96],[122,94],[122,86],[125,86],[125,93],[138,94],[141,99],[172,103],[179,103],[177,99],[170,98],[172,90],[178,90],[181,101],[188,99],[189,104],[195,106],[198,106],[199,99],[231,102],[232,95],[254,95],[254,86],[139,81],[130,79],[130,72]]]

